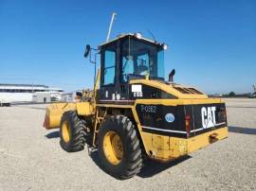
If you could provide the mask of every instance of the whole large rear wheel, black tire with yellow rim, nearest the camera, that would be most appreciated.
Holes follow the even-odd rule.
[[[137,131],[126,116],[112,116],[102,122],[98,151],[103,169],[118,179],[129,179],[142,167]]]

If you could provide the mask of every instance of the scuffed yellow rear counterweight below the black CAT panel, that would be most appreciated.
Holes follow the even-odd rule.
[[[216,136],[214,137],[214,140],[212,134]],[[200,148],[205,148],[215,141],[227,138],[228,128],[225,127],[219,130],[211,130],[210,132],[189,139],[157,135],[147,132],[142,132],[141,135],[148,156],[160,162],[168,162],[183,155],[188,155]]]

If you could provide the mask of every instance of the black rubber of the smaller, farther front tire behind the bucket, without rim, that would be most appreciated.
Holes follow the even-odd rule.
[[[70,139],[67,143],[64,142],[62,127],[66,121],[69,125]],[[61,128],[60,128],[60,145],[67,152],[76,152],[82,150],[85,145],[85,121],[80,119],[75,111],[65,112],[62,116]]]

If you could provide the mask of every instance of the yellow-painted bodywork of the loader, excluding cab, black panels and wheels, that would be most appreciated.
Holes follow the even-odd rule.
[[[99,84],[99,83],[98,83]],[[215,141],[228,137],[228,128],[224,127],[217,130],[210,130],[206,133],[202,133],[191,138],[178,138],[173,136],[159,135],[155,133],[149,133],[142,131],[142,127],[137,114],[137,104],[150,104],[164,105],[164,106],[177,106],[177,105],[200,105],[200,104],[212,104],[223,103],[220,98],[209,98],[206,95],[183,95],[176,91],[174,87],[184,87],[181,85],[166,85],[161,82],[138,79],[132,80],[131,84],[146,84],[153,86],[154,88],[165,90],[178,98],[176,99],[137,99],[133,105],[128,104],[101,104],[94,101],[83,101],[76,103],[54,103],[46,109],[46,129],[59,128],[61,118],[64,112],[75,110],[81,116],[90,116],[96,118],[94,125],[94,137],[97,139],[97,127],[101,128],[102,111],[112,110],[115,113],[120,113],[120,110],[129,110],[132,112],[132,117],[136,121],[137,131],[141,138],[141,143],[145,149],[147,155],[155,160],[161,162],[168,162],[182,155],[187,155],[192,151],[199,148],[204,148]],[[98,113],[98,114],[97,114]],[[104,112],[103,112],[104,113]],[[104,113],[105,114],[105,113]],[[95,143],[94,143],[95,144]]]

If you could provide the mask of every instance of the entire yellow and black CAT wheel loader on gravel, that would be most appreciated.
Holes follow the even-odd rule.
[[[118,179],[135,176],[146,158],[169,162],[226,138],[225,103],[174,83],[174,70],[165,80],[166,48],[140,33],[101,44],[94,90],[48,106],[46,129],[60,128],[68,152],[98,150],[102,168]],[[92,50],[84,53],[90,60]]]

